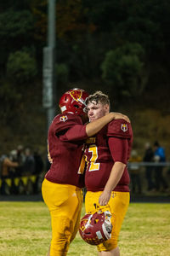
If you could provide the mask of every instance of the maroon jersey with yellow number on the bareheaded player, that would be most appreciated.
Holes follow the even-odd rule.
[[[85,159],[87,170],[85,184],[88,191],[102,191],[110,177],[114,162],[127,164],[133,142],[130,123],[124,119],[111,121],[95,137],[86,140]],[[129,191],[130,178],[127,166],[114,191]]]

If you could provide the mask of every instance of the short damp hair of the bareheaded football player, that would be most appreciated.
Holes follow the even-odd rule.
[[[87,100],[86,100],[86,104],[88,106],[89,102],[101,102],[103,105],[108,104],[110,107],[110,99],[109,96],[107,96],[105,93],[103,93],[100,90],[97,90],[96,92],[94,92],[94,94],[88,96]]]

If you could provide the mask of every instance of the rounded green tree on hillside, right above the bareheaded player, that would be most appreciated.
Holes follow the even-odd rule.
[[[140,44],[127,43],[106,53],[102,78],[117,96],[139,96],[143,92],[146,81],[143,58]]]

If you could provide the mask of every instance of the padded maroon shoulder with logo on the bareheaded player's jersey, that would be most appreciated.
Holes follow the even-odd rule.
[[[114,119],[108,125],[107,136],[130,139],[133,137],[132,126],[124,119]]]

